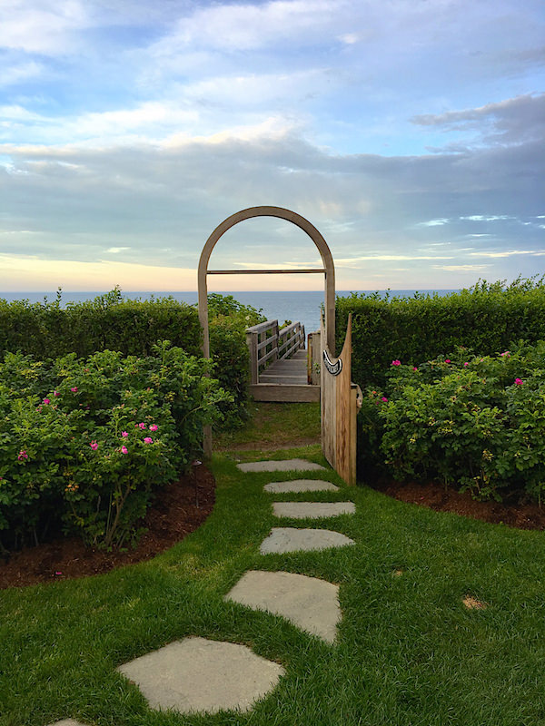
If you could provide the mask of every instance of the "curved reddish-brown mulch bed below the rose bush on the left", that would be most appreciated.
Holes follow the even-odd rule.
[[[0,589],[103,574],[114,567],[154,557],[183,540],[212,512],[215,480],[205,466],[199,466],[197,485],[198,506],[191,474],[158,492],[143,522],[147,532],[135,548],[129,547],[125,552],[104,552],[85,547],[77,538],[25,547],[7,561],[0,559]]]

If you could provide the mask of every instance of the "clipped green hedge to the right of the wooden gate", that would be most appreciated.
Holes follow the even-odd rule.
[[[352,312],[352,379],[363,387],[383,385],[394,359],[418,366],[460,345],[492,355],[536,342],[545,338],[544,280],[482,281],[444,297],[352,293],[337,299],[337,350]]]

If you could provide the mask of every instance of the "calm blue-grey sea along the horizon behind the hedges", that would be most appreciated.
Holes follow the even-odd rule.
[[[357,290],[358,292],[370,292],[371,290]],[[379,290],[381,295],[386,295],[386,290]],[[416,290],[413,289],[401,289],[401,290],[390,290],[390,295],[400,295],[404,297],[411,297],[414,295]],[[420,292],[433,292],[434,290],[420,290]],[[447,295],[449,292],[455,292],[453,289],[438,289],[435,290],[439,295]],[[182,300],[190,304],[197,302],[197,293],[193,291],[188,292],[123,292],[125,298],[137,299],[149,298],[150,295],[154,294],[155,298],[162,298],[168,295],[172,295],[173,299]],[[349,295],[351,290],[337,290],[337,295]],[[64,292],[62,303],[67,302],[82,302],[84,300],[94,299],[97,295],[103,295],[104,291],[84,291],[84,292]],[[253,305],[254,308],[263,309],[263,315],[268,319],[278,319],[278,322],[282,326],[284,320],[301,320],[304,324],[306,332],[320,329],[320,307],[323,303],[323,291],[304,291],[304,292],[293,292],[293,291],[282,291],[282,292],[262,292],[262,291],[234,291],[234,292],[223,292],[223,295],[233,295],[234,299],[242,302],[244,305]],[[14,299],[28,299],[31,302],[43,301],[44,297],[47,297],[49,301],[56,299],[55,292],[2,292],[0,290],[0,298],[6,300]]]

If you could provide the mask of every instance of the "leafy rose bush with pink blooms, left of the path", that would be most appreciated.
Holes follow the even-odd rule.
[[[0,365],[0,530],[5,546],[47,528],[124,544],[154,490],[201,446],[232,399],[211,364],[162,341],[145,358],[104,350]]]

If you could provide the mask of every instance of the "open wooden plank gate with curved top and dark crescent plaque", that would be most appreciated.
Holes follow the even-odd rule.
[[[335,358],[327,344],[323,318],[320,340],[322,452],[347,484],[356,483],[356,416],[362,391],[352,383],[352,315],[348,316],[341,355]]]

